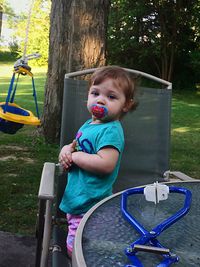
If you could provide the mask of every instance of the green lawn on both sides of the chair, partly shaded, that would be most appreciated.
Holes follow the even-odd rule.
[[[38,105],[43,108],[45,67],[33,67]],[[5,101],[12,64],[0,64],[0,101]],[[19,80],[16,103],[35,113],[31,79]],[[171,170],[200,178],[200,92],[173,93]],[[17,134],[0,132],[0,230],[34,234],[37,193],[45,161],[57,162],[58,145],[49,145],[37,128],[24,126]]]

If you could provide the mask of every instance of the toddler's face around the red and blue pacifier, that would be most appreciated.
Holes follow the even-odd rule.
[[[112,79],[106,79],[98,85],[92,85],[88,93],[87,108],[92,114],[93,121],[104,122],[118,120],[127,111],[126,98],[122,89],[117,88]],[[102,117],[93,112],[93,105],[103,107],[106,114]]]

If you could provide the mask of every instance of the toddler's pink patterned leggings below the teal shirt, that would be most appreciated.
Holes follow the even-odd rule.
[[[68,222],[68,235],[66,239],[66,247],[67,247],[67,253],[70,257],[72,256],[76,230],[79,226],[81,219],[83,218],[83,215],[84,214],[73,215],[69,213],[66,215]]]

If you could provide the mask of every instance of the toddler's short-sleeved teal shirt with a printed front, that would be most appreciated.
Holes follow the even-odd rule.
[[[60,209],[70,214],[85,213],[97,202],[112,194],[124,149],[124,133],[119,121],[91,124],[91,120],[88,120],[79,129],[76,140],[79,151],[97,154],[100,149],[109,146],[116,148],[120,154],[116,167],[110,174],[96,174],[77,166],[70,169],[60,203]]]

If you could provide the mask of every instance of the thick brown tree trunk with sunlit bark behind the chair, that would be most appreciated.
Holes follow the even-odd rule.
[[[59,141],[65,73],[105,64],[110,0],[52,0],[42,130]]]

